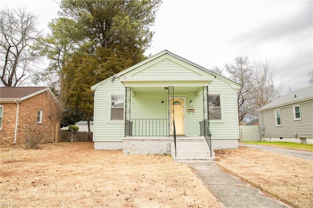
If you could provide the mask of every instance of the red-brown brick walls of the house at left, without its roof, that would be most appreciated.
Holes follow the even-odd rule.
[[[28,126],[34,125],[38,125],[38,129],[44,134],[42,142],[53,142],[51,122],[47,117],[50,113],[49,102],[52,101],[47,93],[49,92],[45,91],[20,103],[16,144],[25,142]],[[8,146],[14,143],[17,104],[1,103],[0,105],[3,105],[0,145]],[[42,124],[37,124],[38,110],[43,111]]]

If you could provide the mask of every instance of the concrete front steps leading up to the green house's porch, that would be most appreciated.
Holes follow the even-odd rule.
[[[213,160],[214,151],[211,152],[205,139],[177,140],[176,156],[174,141],[171,143],[171,154],[174,160]]]

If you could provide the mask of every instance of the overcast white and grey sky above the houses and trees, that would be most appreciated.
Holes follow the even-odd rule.
[[[1,4],[27,6],[44,28],[58,17],[57,2]],[[155,35],[147,56],[166,49],[207,69],[232,64],[237,56],[267,59],[277,82],[284,79],[292,89],[308,86],[313,70],[312,0],[163,0],[151,29]]]

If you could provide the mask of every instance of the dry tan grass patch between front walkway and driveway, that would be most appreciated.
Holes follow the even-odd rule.
[[[313,161],[246,146],[215,155],[219,166],[292,207],[313,207]]]

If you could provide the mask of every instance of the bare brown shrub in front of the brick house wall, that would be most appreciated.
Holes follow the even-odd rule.
[[[38,128],[38,125],[29,125],[26,127],[25,149],[37,149],[38,144],[44,138],[44,133]]]

